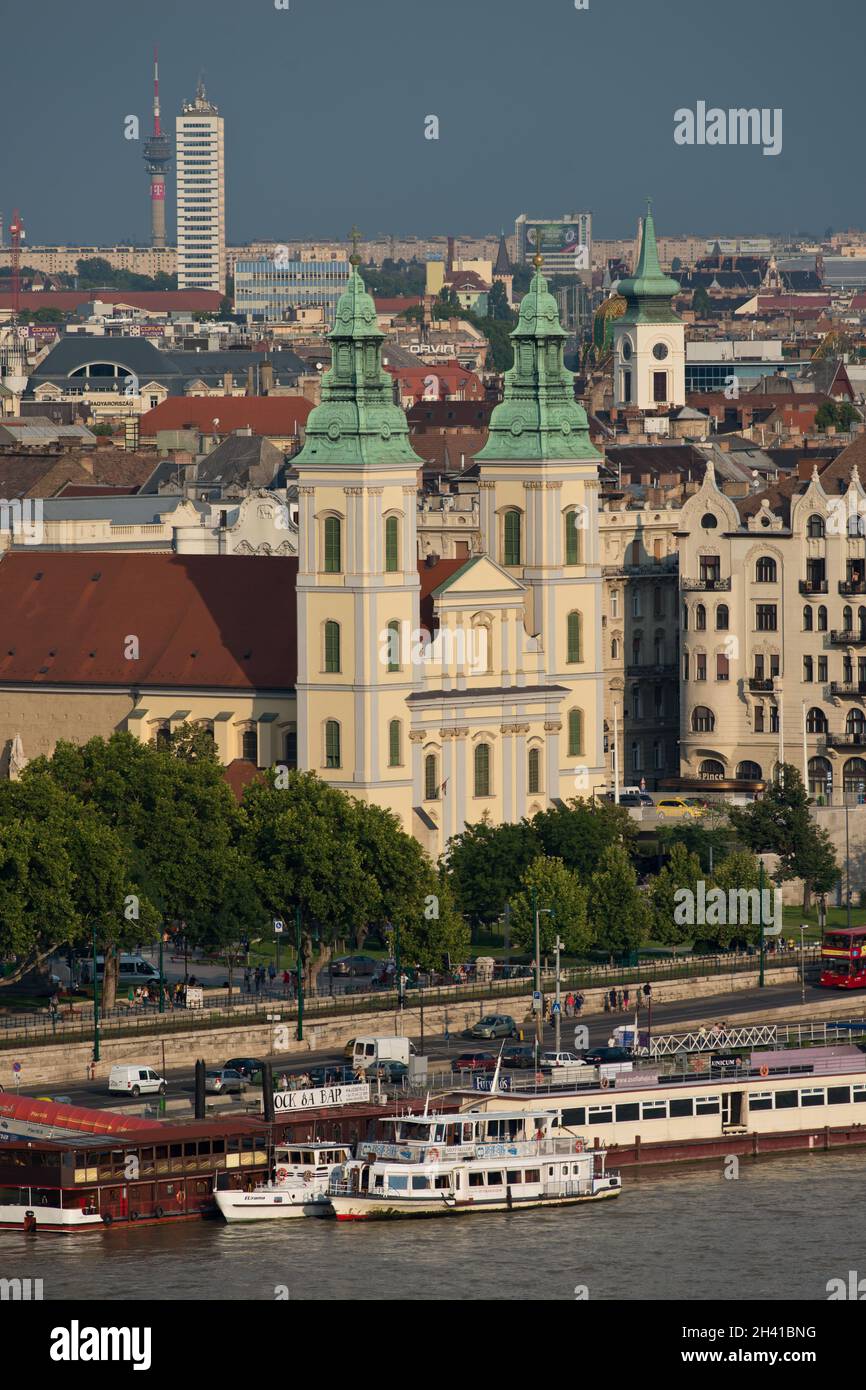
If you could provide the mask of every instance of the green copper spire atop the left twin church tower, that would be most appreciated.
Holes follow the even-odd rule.
[[[423,460],[409,442],[406,414],[393,400],[393,379],[382,367],[384,334],[373,296],[352,257],[352,274],[336,306],[331,367],[322,377],[321,404],[310,411],[304,446],[295,464],[379,466]]]

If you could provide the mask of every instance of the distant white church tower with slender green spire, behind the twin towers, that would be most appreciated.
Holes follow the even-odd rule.
[[[685,404],[685,335],[671,306],[678,292],[678,282],[662,272],[648,204],[635,272],[617,286],[626,313],[614,325],[616,406],[664,410]]]

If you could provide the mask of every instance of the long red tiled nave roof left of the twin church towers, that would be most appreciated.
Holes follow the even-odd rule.
[[[292,556],[6,555],[0,685],[291,689],[296,575]]]

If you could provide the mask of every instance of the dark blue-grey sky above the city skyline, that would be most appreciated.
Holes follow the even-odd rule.
[[[150,131],[154,44],[164,126],[200,72],[225,117],[229,245],[585,210],[632,236],[648,196],[662,235],[866,225],[865,0],[278,3],[0,0],[4,227],[18,207],[31,245],[147,243],[124,128]],[[780,108],[781,152],[677,145],[701,101]]]

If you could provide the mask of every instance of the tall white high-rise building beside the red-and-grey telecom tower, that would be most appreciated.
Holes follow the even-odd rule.
[[[177,118],[178,289],[225,291],[224,124],[199,81]]]

